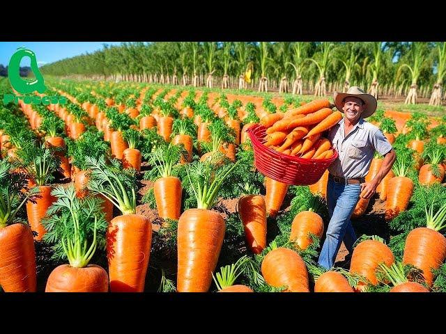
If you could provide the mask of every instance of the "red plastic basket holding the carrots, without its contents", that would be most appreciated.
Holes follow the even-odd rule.
[[[318,182],[325,170],[338,157],[337,151],[329,159],[302,159],[270,148],[265,142],[266,128],[253,125],[247,130],[254,148],[254,165],[263,174],[286,184],[309,185]]]

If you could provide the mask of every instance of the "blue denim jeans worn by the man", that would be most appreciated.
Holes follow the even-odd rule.
[[[333,267],[343,240],[348,252],[353,252],[356,235],[350,216],[359,200],[360,192],[360,184],[340,184],[328,179],[327,204],[330,223],[318,260],[318,264],[326,269]]]

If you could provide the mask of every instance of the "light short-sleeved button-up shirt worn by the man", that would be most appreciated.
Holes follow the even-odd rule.
[[[362,118],[347,136],[344,136],[344,118],[342,118],[330,129],[328,140],[339,154],[328,167],[328,171],[333,176],[348,179],[365,177],[369,173],[375,151],[385,155],[392,150],[392,145],[383,132]]]

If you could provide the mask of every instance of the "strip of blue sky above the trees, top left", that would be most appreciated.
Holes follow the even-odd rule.
[[[102,49],[102,44],[120,45],[121,42],[0,42],[0,64],[7,66],[10,57],[18,47],[26,47],[34,51],[37,57],[38,66],[63,58],[78,56],[86,52],[93,52]],[[23,58],[21,66],[29,66],[30,58]]]

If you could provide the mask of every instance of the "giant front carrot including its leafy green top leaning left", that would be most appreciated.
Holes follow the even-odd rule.
[[[117,161],[112,167],[104,157],[86,158],[91,168],[89,189],[109,199],[122,216],[117,216],[107,230],[107,259],[112,292],[142,292],[151,253],[151,221],[136,214],[136,180],[132,169],[120,169]]]

